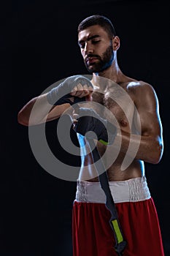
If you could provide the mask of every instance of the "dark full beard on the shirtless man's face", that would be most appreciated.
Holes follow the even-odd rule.
[[[88,69],[88,72],[90,73],[96,73],[101,72],[107,69],[112,65],[112,61],[114,60],[114,52],[112,45],[110,45],[107,50],[102,53],[101,56],[89,54],[88,57],[95,57],[98,59],[96,63],[93,64],[87,64],[85,62],[85,67]]]

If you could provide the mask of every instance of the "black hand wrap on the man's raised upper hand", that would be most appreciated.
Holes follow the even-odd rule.
[[[70,105],[73,105],[78,102],[85,101],[85,97],[74,97],[74,101],[72,102],[71,97],[73,97],[70,93],[72,89],[74,89],[77,84],[81,84],[82,86],[87,85],[90,86],[93,89],[93,85],[90,82],[88,78],[85,78],[82,75],[73,75],[69,78],[66,78],[66,80],[63,81],[63,83],[60,83],[55,88],[51,89],[47,93],[47,102],[50,103],[50,105],[61,105],[64,103],[69,103]]]

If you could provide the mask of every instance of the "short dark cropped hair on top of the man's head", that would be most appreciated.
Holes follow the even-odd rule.
[[[87,29],[89,26],[94,25],[101,26],[105,31],[107,31],[107,34],[110,38],[116,36],[116,31],[112,22],[109,20],[109,18],[103,15],[92,15],[88,18],[85,18],[80,22],[77,31],[78,33],[80,33],[80,31]]]

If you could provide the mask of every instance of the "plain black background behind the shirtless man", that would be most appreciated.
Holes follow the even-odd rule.
[[[18,124],[17,116],[20,108],[47,86],[69,75],[87,74],[77,45],[77,25],[93,14],[106,15],[115,24],[121,40],[117,58],[125,75],[147,81],[158,94],[164,152],[157,165],[145,166],[165,254],[170,255],[170,41],[166,1],[18,0],[1,4],[0,13],[0,255],[72,256],[76,183],[55,178],[36,162],[28,127]],[[55,154],[78,165],[80,159],[68,156],[58,145],[55,128],[56,121],[47,125]]]

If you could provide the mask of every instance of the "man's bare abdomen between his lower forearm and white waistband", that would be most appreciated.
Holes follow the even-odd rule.
[[[81,167],[79,174],[79,181],[90,181],[97,182],[98,181],[98,173],[96,171],[96,167],[93,164],[93,157],[90,153],[90,147],[88,146],[88,141],[85,140],[84,136],[77,134],[77,138],[80,143],[80,154],[81,154]],[[98,148],[101,156],[105,151],[102,152],[101,147]],[[109,154],[110,155],[110,154]],[[121,165],[123,163],[123,159],[125,154],[119,153],[115,161],[111,162],[111,165],[107,168],[107,176],[109,181],[125,181],[130,178],[137,178],[144,176],[144,163],[140,160],[134,159],[125,170],[121,170]],[[112,161],[112,159],[111,159]],[[103,161],[104,164],[105,161]],[[110,160],[109,160],[110,162]]]

